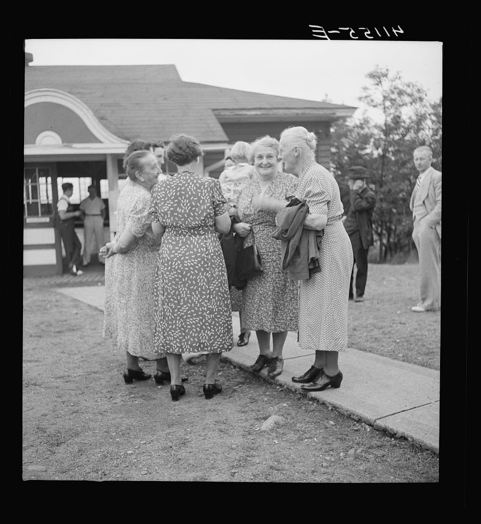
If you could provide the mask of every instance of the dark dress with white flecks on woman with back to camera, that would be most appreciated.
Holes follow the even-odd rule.
[[[155,280],[157,358],[234,346],[231,301],[214,217],[226,211],[218,180],[192,171],[152,190],[150,213],[166,227]]]

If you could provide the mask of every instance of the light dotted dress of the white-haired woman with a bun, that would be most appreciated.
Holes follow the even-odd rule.
[[[299,177],[296,196],[310,213],[343,213],[339,187],[332,174],[311,162]],[[344,351],[347,347],[347,304],[353,248],[341,220],[326,225],[319,250],[321,271],[299,281],[299,345],[303,350]]]

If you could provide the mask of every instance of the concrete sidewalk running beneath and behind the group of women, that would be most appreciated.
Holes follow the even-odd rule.
[[[57,289],[76,300],[104,310],[104,286],[64,287]],[[232,314],[234,340],[239,333],[238,313]],[[249,344],[234,346],[223,358],[248,369],[259,354],[255,333]],[[297,333],[289,332],[283,349],[284,368],[275,380],[260,376],[282,387],[302,392],[291,377],[302,375],[314,362],[314,352],[302,352]],[[347,348],[339,355],[344,378],[339,389],[309,393],[308,396],[362,420],[376,429],[406,437],[425,449],[439,454],[440,373],[434,369],[399,362],[391,358]]]

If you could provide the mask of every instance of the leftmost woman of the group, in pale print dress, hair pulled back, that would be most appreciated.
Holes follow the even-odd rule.
[[[117,233],[100,249],[105,257],[104,336],[117,341],[127,358],[126,384],[148,380],[139,357],[156,359],[157,384],[170,380],[165,356],[154,353],[154,281],[160,239],[152,232],[150,191],[157,183],[157,159],[137,150],[124,161],[128,181],[117,202]]]

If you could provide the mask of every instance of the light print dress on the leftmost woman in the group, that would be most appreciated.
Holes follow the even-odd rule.
[[[119,350],[152,360],[154,281],[160,240],[152,232],[150,191],[128,180],[117,202],[116,242],[124,231],[137,237],[125,253],[105,259],[105,337]],[[125,354],[124,354],[125,356]]]

